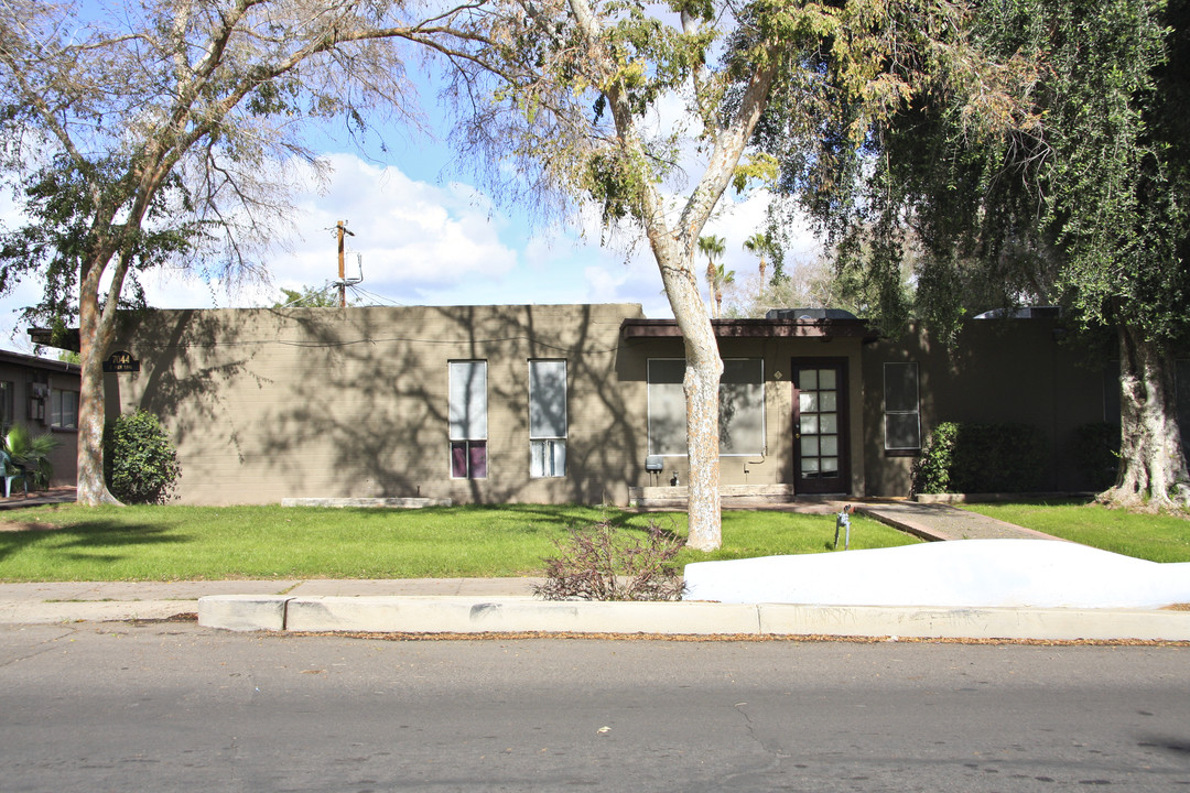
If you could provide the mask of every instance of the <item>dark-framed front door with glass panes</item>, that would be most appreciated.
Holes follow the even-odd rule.
[[[846,360],[794,361],[794,489],[847,492]]]

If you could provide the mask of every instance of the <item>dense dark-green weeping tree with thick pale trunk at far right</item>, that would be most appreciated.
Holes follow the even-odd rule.
[[[829,145],[846,139],[846,115],[831,118],[819,150],[829,157],[781,158],[782,187],[828,232],[840,281],[877,296],[885,327],[912,307],[953,338],[972,310],[1041,302],[1116,333],[1121,466],[1101,495],[1111,504],[1190,506],[1173,378],[1190,338],[1188,8],[978,4],[984,50],[1041,64],[1019,71],[1019,120],[972,126],[929,86],[846,145]]]

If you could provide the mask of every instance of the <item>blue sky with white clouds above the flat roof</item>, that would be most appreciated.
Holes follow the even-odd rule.
[[[271,304],[280,288],[322,285],[337,276],[336,221],[345,220],[347,275],[363,268],[365,301],[378,304],[465,306],[489,303],[640,303],[647,316],[671,316],[660,276],[647,245],[627,240],[603,247],[594,215],[570,224],[533,225],[518,207],[494,204],[457,168],[445,139],[436,89],[421,82],[421,103],[437,136],[389,131],[386,150],[361,152],[336,126],[313,130],[308,140],[333,168],[328,184],[311,184],[292,195],[295,233],[269,250],[268,283],[233,292],[186,273],[163,271],[143,283],[159,308],[250,307]],[[724,199],[720,214],[703,233],[726,238],[724,263],[737,278],[756,271],[744,240],[759,229],[764,196]],[[0,219],[14,212],[0,197]],[[803,237],[793,258],[809,258],[814,241]],[[358,256],[357,256],[358,254]],[[15,311],[36,300],[37,285],[23,284],[0,298],[0,346],[31,351]]]

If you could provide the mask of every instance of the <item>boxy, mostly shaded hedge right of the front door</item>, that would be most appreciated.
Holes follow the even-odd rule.
[[[1020,493],[1045,483],[1041,433],[1028,424],[944,422],[913,466],[914,493]]]

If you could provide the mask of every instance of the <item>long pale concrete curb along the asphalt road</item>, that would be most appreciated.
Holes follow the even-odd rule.
[[[306,632],[568,632],[1190,641],[1190,612],[731,603],[591,603],[476,597],[209,596],[199,624]]]

